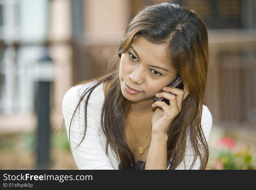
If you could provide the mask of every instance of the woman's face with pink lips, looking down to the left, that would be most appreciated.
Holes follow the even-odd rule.
[[[134,38],[120,59],[119,78],[125,98],[130,101],[154,98],[175,79],[176,71],[170,65],[166,48],[167,44],[154,44],[141,36]],[[125,84],[141,92],[131,94]]]

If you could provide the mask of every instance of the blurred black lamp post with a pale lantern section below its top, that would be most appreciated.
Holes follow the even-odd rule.
[[[50,84],[54,67],[45,48],[35,65],[35,111],[38,116],[36,169],[50,169]]]

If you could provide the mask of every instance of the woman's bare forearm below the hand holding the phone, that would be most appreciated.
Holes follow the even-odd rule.
[[[152,134],[145,169],[167,169],[167,140],[167,133]]]

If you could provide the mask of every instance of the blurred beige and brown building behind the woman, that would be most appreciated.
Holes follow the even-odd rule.
[[[43,47],[53,59],[51,121],[60,125],[65,92],[106,73],[131,18],[153,0],[0,0],[0,130],[33,130],[31,67]],[[256,1],[176,0],[209,29],[206,105],[214,123],[255,127]]]

